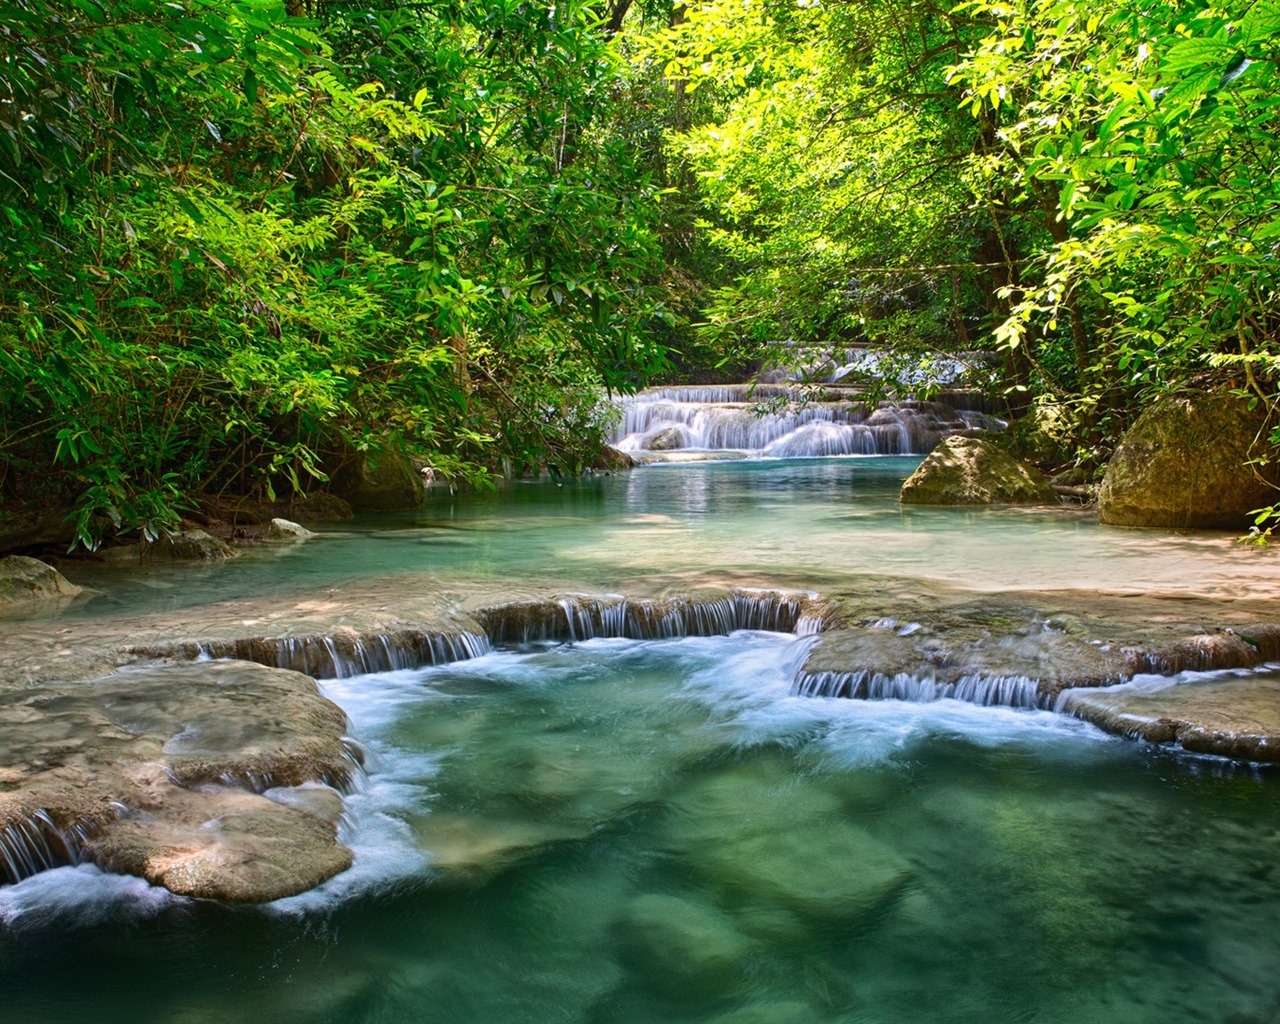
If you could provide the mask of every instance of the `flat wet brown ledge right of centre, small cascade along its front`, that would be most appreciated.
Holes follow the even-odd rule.
[[[1050,708],[1069,687],[1155,672],[1252,668],[1280,658],[1274,609],[1060,591],[973,594],[886,582],[828,598],[797,677],[828,696],[961,696]]]

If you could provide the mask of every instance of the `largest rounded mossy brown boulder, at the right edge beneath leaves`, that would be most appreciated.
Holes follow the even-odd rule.
[[[1247,465],[1266,449],[1266,417],[1226,392],[1169,396],[1120,440],[1098,495],[1111,526],[1243,530],[1280,500],[1275,467]]]

